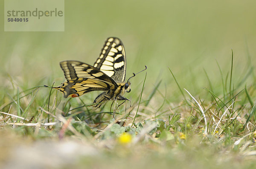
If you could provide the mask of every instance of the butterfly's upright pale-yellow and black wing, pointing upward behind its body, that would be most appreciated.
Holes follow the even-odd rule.
[[[115,82],[124,82],[126,58],[122,41],[116,37],[109,37],[93,66],[111,77]]]

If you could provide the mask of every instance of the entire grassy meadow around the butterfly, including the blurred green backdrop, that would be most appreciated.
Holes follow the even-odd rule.
[[[196,2],[65,1],[65,32],[0,32],[0,168],[255,168],[255,2]],[[147,66],[115,119],[44,87],[109,36],[126,77]]]

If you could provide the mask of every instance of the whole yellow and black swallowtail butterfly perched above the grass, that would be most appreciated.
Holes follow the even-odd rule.
[[[130,101],[123,95],[131,91],[129,80],[136,74],[133,73],[133,76],[125,82],[125,48],[119,38],[109,37],[105,41],[99,58],[93,66],[74,60],[62,61],[60,66],[67,81],[52,88],[60,90],[64,98],[79,97],[90,91],[103,90],[104,92],[93,101],[93,110],[109,100]],[[146,68],[145,66],[144,70]]]

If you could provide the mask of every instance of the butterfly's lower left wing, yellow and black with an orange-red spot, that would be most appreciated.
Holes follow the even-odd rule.
[[[64,98],[78,97],[94,90],[113,90],[117,87],[113,79],[86,63],[70,60],[60,62],[60,65],[67,82],[53,88],[64,93]]]

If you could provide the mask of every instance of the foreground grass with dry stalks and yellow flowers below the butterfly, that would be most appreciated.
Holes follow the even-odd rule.
[[[223,79],[223,70],[219,65],[218,67]],[[114,161],[120,161],[124,165],[123,168],[132,167],[128,161],[137,161],[137,168],[170,165],[183,168],[254,167],[256,165],[254,162],[256,107],[253,102],[255,84],[247,83],[250,87],[245,85],[244,89],[233,85],[232,90],[227,90],[227,85],[222,85],[222,89],[218,89],[224,91],[221,92],[222,94],[214,93],[213,91],[217,89],[213,84],[209,84],[212,89],[205,87],[205,90],[211,97],[204,99],[200,97],[200,93],[182,90],[178,78],[170,70],[170,78],[172,77],[177,89],[184,97],[183,100],[172,103],[171,106],[167,104],[166,95],[158,90],[161,81],[157,82],[148,97],[143,96],[143,89],[147,87],[145,76],[140,85],[140,95],[134,96],[132,100],[135,101],[127,110],[130,112],[129,115],[125,113],[125,106],[120,106],[116,112],[116,119],[113,119],[113,112],[105,111],[110,110],[111,103],[93,112],[90,107],[87,107],[90,105],[84,104],[84,99],[63,99],[58,91],[50,88],[47,91],[42,86],[31,89],[15,87],[14,94],[8,94],[9,92],[6,91],[3,96],[4,102],[0,107],[0,127],[2,136],[8,133],[7,137],[11,137],[11,140],[19,141],[3,139],[1,145],[10,144],[5,151],[15,161],[18,157],[11,155],[11,151],[16,151],[22,156],[24,152],[20,152],[18,147],[32,151],[31,146],[35,146],[39,149],[33,152],[39,154],[37,163],[44,161],[43,156],[50,155],[49,153],[58,147],[58,142],[67,144],[62,147],[66,149],[65,151],[74,145],[84,149],[84,144],[93,149],[92,152],[87,150],[73,152],[76,150],[74,148],[69,150],[66,157],[61,156],[61,151],[64,150],[56,150],[55,158],[60,159],[58,165],[62,167],[81,167],[86,164],[87,168],[93,166],[111,168],[113,164],[118,165]],[[247,79],[250,77],[253,77],[252,73]],[[229,82],[232,82],[231,78],[230,74]],[[213,82],[213,79],[209,80],[208,76],[207,79],[208,83]],[[13,84],[16,86],[15,83]],[[41,90],[44,90],[43,95],[38,95]],[[162,99],[154,100],[160,96]],[[161,101],[163,103],[156,104],[157,106],[153,108],[149,107],[150,104],[154,104],[153,100],[154,103],[161,103]],[[124,132],[130,136],[122,138]],[[44,144],[37,145],[40,142]],[[43,149],[49,149],[49,151],[41,154]],[[64,160],[71,158],[70,155],[73,153],[76,158]],[[5,159],[5,157],[1,158]],[[163,163],[157,161],[163,161]],[[151,163],[155,164],[151,165]],[[20,163],[7,164],[11,167],[20,165]],[[29,166],[31,161],[25,160],[22,165]]]

